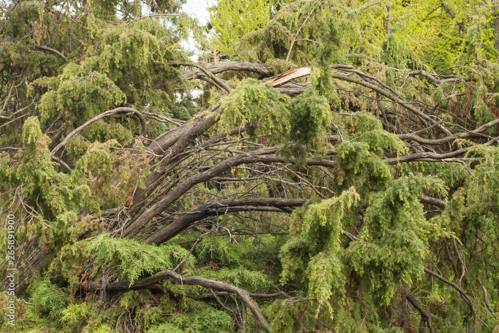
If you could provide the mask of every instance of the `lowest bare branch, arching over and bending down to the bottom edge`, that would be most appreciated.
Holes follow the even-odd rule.
[[[173,270],[166,270],[158,272],[150,277],[137,280],[132,285],[130,285],[130,282],[128,281],[108,283],[106,285],[106,291],[115,292],[115,291],[125,291],[129,289],[143,289],[152,286],[156,282],[164,279],[172,279],[179,285],[201,286],[208,289],[216,289],[219,291],[236,294],[243,300],[246,306],[250,308],[251,313],[258,320],[258,323],[261,325],[261,327],[266,332],[270,332],[270,325],[268,324],[267,320],[265,319],[261,311],[258,309],[256,304],[253,302],[253,300],[250,297],[250,294],[247,291],[223,282],[206,279],[200,276],[182,276],[177,272],[174,272]],[[86,284],[85,286],[80,285],[80,289],[84,291],[97,291],[100,290],[101,288],[102,288],[101,283],[89,283]]]

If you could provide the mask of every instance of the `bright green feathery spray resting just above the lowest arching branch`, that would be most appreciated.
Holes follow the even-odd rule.
[[[94,275],[99,270],[115,267],[120,277],[133,284],[143,274],[154,274],[175,267],[187,255],[187,250],[175,245],[143,245],[131,239],[110,238],[101,234],[87,248],[96,261]],[[192,267],[195,259],[189,256],[185,265]]]

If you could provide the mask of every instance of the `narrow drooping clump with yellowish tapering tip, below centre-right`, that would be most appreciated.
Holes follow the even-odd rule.
[[[281,283],[296,280],[300,275],[308,280],[308,293],[318,303],[316,315],[326,306],[333,316],[330,299],[341,299],[344,294],[347,272],[340,258],[342,221],[359,200],[352,187],[338,197],[310,204],[293,214],[294,237],[280,253]]]

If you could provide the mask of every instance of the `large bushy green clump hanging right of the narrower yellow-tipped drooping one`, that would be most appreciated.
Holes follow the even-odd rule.
[[[389,304],[402,283],[412,285],[423,272],[428,234],[434,232],[418,200],[424,189],[444,197],[447,193],[445,184],[433,177],[409,175],[394,180],[373,198],[360,241],[347,249],[350,264],[380,305]]]

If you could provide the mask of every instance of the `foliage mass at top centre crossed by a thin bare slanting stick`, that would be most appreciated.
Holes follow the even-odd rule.
[[[355,33],[355,19],[344,1],[292,1],[279,10],[260,30],[248,33],[234,53],[237,60],[286,59],[296,64],[307,63],[327,48],[337,52],[347,36]],[[291,46],[293,45],[293,46]]]

